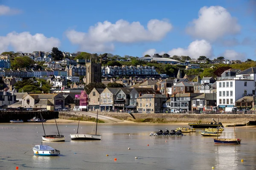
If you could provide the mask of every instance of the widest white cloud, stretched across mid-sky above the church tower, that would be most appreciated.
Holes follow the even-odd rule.
[[[87,33],[69,30],[65,34],[70,42],[79,45],[81,50],[105,52],[114,49],[114,42],[160,41],[171,30],[172,24],[163,20],[148,21],[147,29],[140,22],[118,20],[116,23],[99,22],[91,26]]]

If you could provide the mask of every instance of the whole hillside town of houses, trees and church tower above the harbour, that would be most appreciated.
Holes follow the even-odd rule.
[[[3,52],[1,109],[214,113],[255,111],[256,62],[168,54]]]

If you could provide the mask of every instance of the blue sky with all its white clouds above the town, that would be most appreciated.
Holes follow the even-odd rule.
[[[1,52],[256,59],[254,0],[0,0],[0,9]]]

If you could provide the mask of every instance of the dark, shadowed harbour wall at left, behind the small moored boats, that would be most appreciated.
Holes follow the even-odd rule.
[[[10,120],[23,120],[27,122],[33,117],[40,118],[40,113],[44,119],[58,118],[58,111],[0,111],[0,123],[9,123]]]

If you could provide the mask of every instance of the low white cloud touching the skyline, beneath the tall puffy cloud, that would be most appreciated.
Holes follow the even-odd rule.
[[[195,40],[191,42],[188,48],[174,48],[168,51],[168,54],[172,57],[177,56],[189,56],[191,58],[198,58],[199,56],[212,57],[212,46],[206,40]]]

